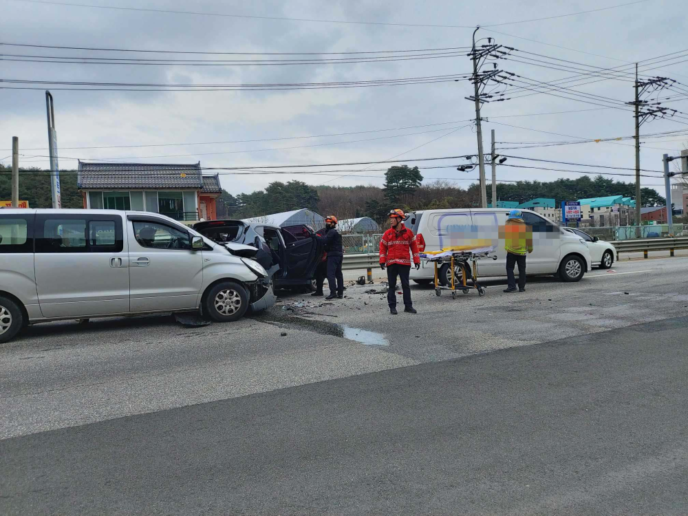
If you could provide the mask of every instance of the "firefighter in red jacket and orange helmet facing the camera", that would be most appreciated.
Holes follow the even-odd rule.
[[[411,257],[416,269],[420,268],[420,255],[416,235],[404,225],[405,214],[401,210],[389,212],[389,225],[391,226],[382,239],[380,239],[380,268],[387,268],[387,302],[389,312],[396,315],[396,277],[401,279],[401,288],[404,291],[404,312],[416,314],[411,302],[411,286],[409,275],[411,274]]]

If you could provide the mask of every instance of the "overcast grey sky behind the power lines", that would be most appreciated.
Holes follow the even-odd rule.
[[[616,6],[627,1],[64,0],[65,3],[84,5],[242,14],[258,17],[465,26],[495,25],[555,17],[561,14]],[[34,45],[193,52],[373,52],[464,47],[471,44],[473,32],[470,28],[458,27],[251,19],[110,10],[27,3],[17,0],[0,0],[0,7],[3,12],[2,21],[0,21],[3,43]],[[494,37],[497,43],[515,47],[519,52],[533,52],[598,67],[623,67],[634,61],[684,50],[682,47],[688,46],[685,36],[687,23],[684,10],[685,1],[682,0],[647,0],[633,5],[569,17],[499,25],[481,29],[477,34],[482,38]],[[498,34],[494,31],[509,35]],[[0,52],[35,56],[269,58],[267,56],[213,57],[193,54],[96,53],[7,45],[0,45]],[[591,54],[598,54],[598,56]],[[532,54],[513,53],[512,55],[515,58],[543,59]],[[302,57],[323,58],[325,56]],[[294,56],[272,58],[294,58]],[[685,59],[676,61],[685,61]],[[540,81],[551,81],[575,73],[551,69],[555,63],[557,62],[548,61],[546,68],[513,60],[500,60],[499,67],[530,80]],[[559,63],[581,67],[581,65],[563,61]],[[664,64],[658,63],[655,66]],[[0,67],[0,78],[3,79],[170,85],[263,84],[323,83],[469,74],[471,61],[462,55],[409,61],[289,66],[191,67],[177,64],[141,66],[1,61]],[[648,71],[647,74],[669,76],[688,85],[688,61],[654,69]],[[590,85],[567,86],[579,92],[590,92],[607,99],[627,101],[632,100],[633,96],[632,83],[628,81],[605,80]],[[10,163],[6,155],[10,154],[8,149],[11,149],[12,136],[19,136],[20,152],[23,154],[21,165],[47,166],[45,158],[28,157],[47,155],[45,149],[27,150],[47,147],[43,91],[46,87],[45,85],[36,85],[36,87],[41,89],[0,89],[0,149],[2,149],[0,158],[5,158],[3,162],[6,164]],[[52,90],[55,102],[61,169],[76,168],[76,160],[68,158],[81,160],[112,158],[112,160],[162,163],[200,161],[202,166],[212,167],[375,162],[391,159],[402,153],[405,154],[400,156],[402,159],[400,163],[422,166],[451,165],[461,160],[405,162],[403,158],[471,154],[476,153],[477,149],[474,127],[468,125],[455,130],[466,126],[469,124],[469,119],[475,118],[473,103],[464,99],[465,96],[473,93],[472,85],[465,80],[367,88],[258,92],[74,92],[58,91],[56,87],[51,86],[48,89]],[[688,90],[688,87],[684,89]],[[528,92],[521,92],[518,95],[524,93]],[[667,93],[663,92],[662,95],[666,96]],[[594,102],[592,98],[590,101]],[[607,105],[608,101],[603,100],[601,103]],[[688,112],[688,100],[665,103],[665,105]],[[543,114],[573,110],[587,111]],[[526,116],[530,114],[540,115]],[[603,109],[603,106],[546,94],[486,104],[482,116],[490,120],[483,123],[486,152],[490,145],[491,129],[495,129],[498,142],[569,141],[577,139],[574,137],[618,138],[632,136],[634,131],[631,111]],[[684,120],[684,123],[675,120],[655,120],[643,125],[641,133],[680,129],[686,129],[685,133],[688,133],[686,122],[688,118]],[[68,147],[294,138],[433,124],[442,125],[348,136],[264,142],[67,149]],[[509,126],[519,126],[519,128]],[[548,132],[566,136],[557,136]],[[687,139],[688,136],[671,136],[643,140],[647,141],[647,146],[654,148],[643,148],[642,167],[660,170],[663,153],[678,153],[682,148],[682,142]],[[309,145],[311,147],[303,147]],[[284,147],[301,148],[283,149]],[[415,147],[418,149],[411,151]],[[498,147],[512,147],[512,145],[499,144]],[[502,153],[562,162],[630,168],[634,166],[632,140],[519,149],[502,151]],[[463,162],[466,161],[463,160]],[[513,158],[509,158],[507,164],[583,170],[581,167],[527,162]],[[222,186],[233,194],[264,188],[274,180],[294,178],[314,185],[325,182],[325,184],[346,186],[381,185],[383,171],[378,171],[378,169],[386,168],[386,166],[343,167],[347,170],[369,167],[372,170],[342,173],[372,176],[369,178],[340,178],[336,175],[319,177],[299,174],[222,175],[221,179]],[[332,167],[323,167],[323,169],[332,169]],[[590,171],[597,172],[596,169],[590,169]],[[632,171],[623,170],[608,170],[608,172],[632,173]],[[488,169],[488,178],[489,173]],[[453,178],[456,184],[465,187],[471,183],[469,179],[477,178],[477,171],[462,173],[453,168],[424,169],[423,175],[426,181],[432,178]],[[578,173],[538,171],[506,166],[499,166],[497,169],[497,177],[501,180],[552,180],[560,177],[576,178],[579,175]],[[615,178],[624,181],[634,180],[632,177]],[[660,184],[662,184],[660,178],[643,178],[644,186]],[[661,186],[656,186],[656,188],[663,193]]]

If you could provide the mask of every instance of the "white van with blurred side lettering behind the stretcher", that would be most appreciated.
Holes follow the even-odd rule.
[[[471,241],[493,246],[497,259],[478,261],[478,272],[481,277],[506,276],[505,242],[499,238],[499,226],[506,224],[509,212],[503,208],[425,210],[409,214],[405,224],[413,230],[421,250],[435,251]],[[580,281],[592,264],[585,240],[533,211],[522,213],[526,224],[533,228],[533,252],[526,261],[528,275],[554,274],[563,281]],[[460,273],[460,268],[456,269]],[[450,276],[449,264],[444,264],[438,279],[446,285]],[[429,284],[433,277],[433,264],[424,260],[420,270],[411,268],[411,279],[416,283]]]

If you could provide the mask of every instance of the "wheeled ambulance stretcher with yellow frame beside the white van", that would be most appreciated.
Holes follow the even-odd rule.
[[[435,294],[440,296],[442,290],[450,290],[452,299],[456,299],[456,291],[461,290],[464,294],[468,294],[469,290],[477,290],[478,295],[485,295],[485,288],[478,283],[478,267],[477,261],[480,259],[492,258],[497,259],[495,255],[495,248],[449,248],[442,249],[435,252],[424,252],[420,255],[421,259],[431,262],[435,267]],[[469,266],[472,264],[472,267]],[[447,285],[442,285],[440,282],[440,274],[438,270],[444,264],[448,264],[448,270],[451,274],[447,278]],[[457,269],[461,271],[461,277],[456,277]],[[468,279],[471,279],[469,284]]]

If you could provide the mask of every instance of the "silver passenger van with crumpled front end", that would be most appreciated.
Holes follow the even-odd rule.
[[[275,303],[256,253],[155,213],[0,210],[0,343],[60,319],[199,310],[236,321]]]

